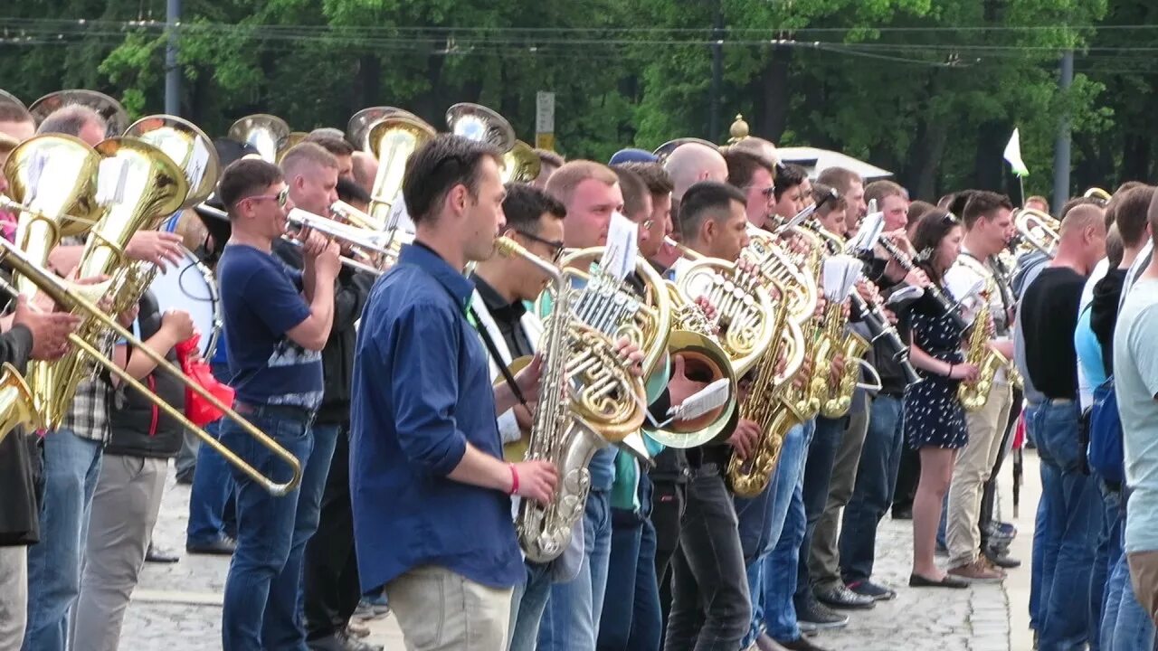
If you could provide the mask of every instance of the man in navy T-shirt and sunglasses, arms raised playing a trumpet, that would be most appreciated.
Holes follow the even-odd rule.
[[[302,243],[303,271],[272,255],[293,207],[281,171],[261,160],[241,160],[221,175],[218,195],[233,233],[218,264],[234,409],[293,453],[303,469],[313,448],[310,425],[322,398],[320,351],[334,319],[338,246],[318,234]],[[235,422],[221,424],[221,442],[274,481],[292,470],[251,440]],[[296,489],[269,495],[234,470],[237,548],[225,587],[221,638],[236,649],[302,649],[298,616],[301,585],[300,513]]]

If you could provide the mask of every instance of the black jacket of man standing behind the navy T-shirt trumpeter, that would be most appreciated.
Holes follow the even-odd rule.
[[[302,269],[301,249],[279,240],[273,253],[294,269]],[[334,326],[330,338],[322,349],[322,378],[324,394],[316,422],[340,425],[350,422],[350,392],[354,371],[354,345],[358,330],[354,323],[361,317],[374,278],[343,265],[334,291]]]

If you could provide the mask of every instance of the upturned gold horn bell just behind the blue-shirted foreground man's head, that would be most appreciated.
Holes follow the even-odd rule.
[[[431,125],[404,116],[386,117],[371,126],[366,138],[371,153],[378,159],[378,175],[369,192],[369,214],[378,231],[389,226],[390,207],[402,196],[406,160],[434,136]]]

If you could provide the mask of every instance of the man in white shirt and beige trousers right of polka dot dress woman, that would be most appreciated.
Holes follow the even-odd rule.
[[[1004,195],[973,192],[962,214],[966,234],[961,241],[961,255],[945,273],[946,281],[953,286],[976,288],[975,294],[961,297],[966,320],[973,321],[977,312],[988,306],[995,337],[990,346],[1005,359],[1013,357],[1010,324],[1014,301],[1004,273],[996,266],[996,258],[1009,242],[1012,209],[1013,204]],[[984,484],[1005,440],[1012,401],[1007,372],[1001,368],[994,376],[984,407],[966,414],[969,441],[958,452],[953,466],[945,515],[948,572],[969,580],[1001,580],[1005,572],[995,565],[997,562],[1016,566],[1014,562],[1002,561],[996,555],[990,559],[982,554],[989,550],[982,546],[979,525]]]

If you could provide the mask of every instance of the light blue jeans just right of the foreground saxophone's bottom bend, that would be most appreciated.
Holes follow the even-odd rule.
[[[591,491],[584,511],[584,559],[574,580],[551,586],[538,628],[540,651],[591,651],[603,614],[611,554],[611,495]]]

